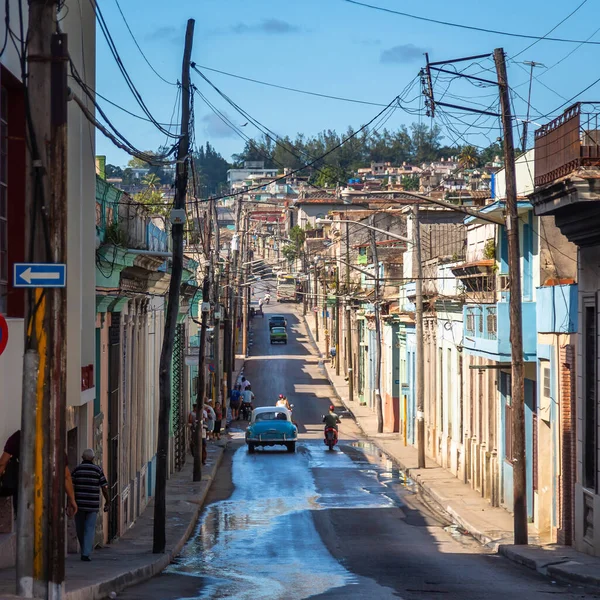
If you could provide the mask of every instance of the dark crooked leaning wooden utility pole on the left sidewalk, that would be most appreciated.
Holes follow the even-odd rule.
[[[181,73],[181,137],[177,150],[174,210],[185,211],[188,180],[189,124],[190,124],[190,57],[194,38],[194,20],[187,23]],[[165,333],[160,353],[158,375],[159,401],[158,442],[156,449],[156,490],[154,494],[154,540],[152,551],[160,554],[166,546],[167,519],[167,458],[169,455],[169,421],[171,416],[171,362],[175,328],[179,312],[179,292],[183,273],[183,223],[171,226],[173,238],[173,265],[165,315]]]

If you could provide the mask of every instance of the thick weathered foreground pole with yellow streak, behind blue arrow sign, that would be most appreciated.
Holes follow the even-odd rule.
[[[30,0],[25,251],[67,262],[67,36],[57,3]],[[27,290],[17,593],[60,600],[65,579],[66,288]],[[38,458],[39,457],[39,458]]]

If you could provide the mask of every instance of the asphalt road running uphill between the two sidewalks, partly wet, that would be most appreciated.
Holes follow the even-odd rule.
[[[265,313],[253,322],[245,374],[259,406],[280,393],[294,404],[297,452],[249,455],[244,427],[236,427],[197,532],[177,563],[120,598],[600,597],[561,587],[455,531],[360,439],[350,419],[342,422],[339,448],[329,452],[321,415],[332,390],[298,307],[272,303]],[[269,344],[269,314],[286,314],[287,345]]]

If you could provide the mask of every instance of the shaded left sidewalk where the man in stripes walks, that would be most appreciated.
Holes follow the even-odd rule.
[[[193,460],[167,482],[167,548],[152,554],[154,500],[151,500],[133,527],[114,544],[96,549],[92,562],[81,562],[79,554],[66,558],[66,600],[100,600],[120,592],[164,570],[181,552],[192,535],[204,500],[215,477],[225,442],[209,444],[202,481],[192,482]],[[0,600],[14,598],[15,569],[0,570]]]

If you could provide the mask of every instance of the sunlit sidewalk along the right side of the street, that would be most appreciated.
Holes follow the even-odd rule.
[[[450,471],[433,460],[426,460],[426,468],[418,468],[417,449],[404,445],[398,433],[377,433],[377,416],[368,406],[348,400],[348,383],[336,375],[325,359],[325,342],[315,342],[311,319],[304,318],[313,345],[317,348],[327,377],[340,403],[354,417],[366,438],[415,481],[421,491],[457,525],[488,548],[510,560],[547,574],[566,583],[600,587],[600,559],[577,552],[570,546],[557,544],[514,546],[513,517],[503,508],[489,502],[469,485],[462,483]],[[537,531],[530,525],[530,541],[538,541]]]

